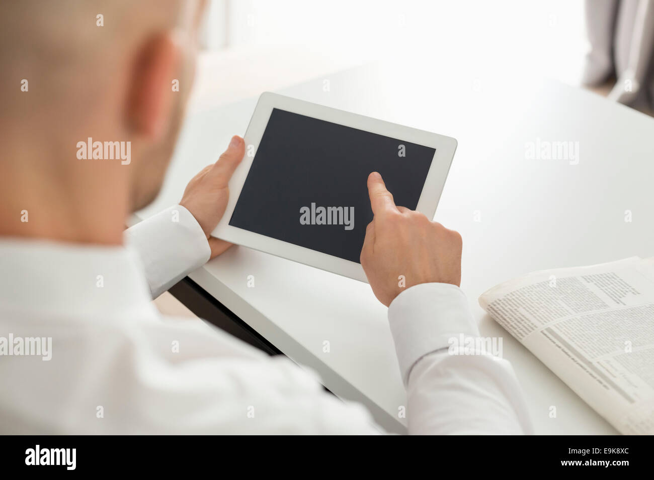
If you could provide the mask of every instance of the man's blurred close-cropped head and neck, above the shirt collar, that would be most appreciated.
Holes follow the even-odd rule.
[[[4,234],[49,236],[33,229],[51,230],[56,217],[71,239],[94,209],[112,221],[156,197],[194,76],[202,10],[201,0],[0,3],[0,190],[10,193],[0,193],[8,209],[0,215],[15,223],[16,212],[34,210],[31,226],[0,227]],[[88,138],[92,149],[80,152]],[[129,163],[94,159],[94,142],[130,142]]]

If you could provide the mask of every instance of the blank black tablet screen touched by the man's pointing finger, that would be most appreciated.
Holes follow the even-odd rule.
[[[230,225],[359,263],[373,217],[368,175],[415,210],[434,153],[273,108]]]

